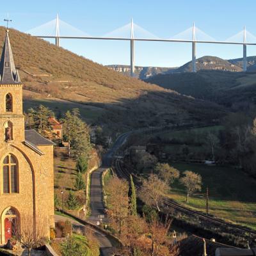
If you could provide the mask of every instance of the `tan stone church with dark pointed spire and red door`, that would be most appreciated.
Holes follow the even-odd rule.
[[[0,62],[0,244],[28,225],[36,232],[42,220],[46,237],[54,227],[54,143],[25,130],[22,83],[8,34]]]

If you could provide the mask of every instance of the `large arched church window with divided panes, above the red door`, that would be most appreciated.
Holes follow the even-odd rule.
[[[18,193],[17,159],[12,154],[3,161],[3,193]]]

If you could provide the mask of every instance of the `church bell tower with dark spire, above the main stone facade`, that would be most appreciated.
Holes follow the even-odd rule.
[[[22,83],[15,68],[9,30],[3,45],[0,62],[0,143],[24,141]]]

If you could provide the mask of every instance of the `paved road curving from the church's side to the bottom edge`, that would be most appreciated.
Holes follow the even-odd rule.
[[[81,228],[81,230],[83,230],[84,227],[85,227],[80,222],[78,222],[76,220],[73,220],[72,218],[68,218],[66,216],[55,215],[54,218],[55,218],[55,221],[66,221],[66,220],[68,220],[68,221],[70,221],[72,223],[72,226],[74,228]],[[108,237],[106,237],[105,234],[102,234],[98,230],[95,230],[95,229],[93,229],[91,227],[88,227],[88,228],[90,228],[93,231],[93,236],[99,242],[100,255],[102,255],[102,256],[109,256],[109,255],[111,255],[109,253],[109,251],[111,251],[111,248],[113,248],[113,245],[109,241]]]

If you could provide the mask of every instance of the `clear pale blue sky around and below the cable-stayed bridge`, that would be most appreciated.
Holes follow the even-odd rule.
[[[10,27],[25,32],[55,19],[58,13],[60,20],[84,33],[103,36],[128,24],[132,18],[135,24],[159,38],[172,38],[195,22],[207,35],[223,41],[244,26],[256,35],[255,10],[255,0],[12,0],[11,4],[1,3],[0,25],[5,26],[3,20],[9,17],[13,20]],[[54,28],[49,28],[51,31]],[[120,33],[129,35],[129,26]],[[188,31],[186,36],[192,37],[190,34]],[[129,42],[61,39],[60,45],[103,65],[130,63]],[[178,67],[191,60],[189,43],[135,42],[134,51],[135,65],[140,66]],[[243,46],[196,44],[196,58],[205,55],[241,58]],[[256,45],[248,45],[247,55],[256,55]]]

